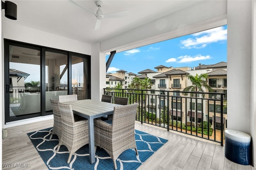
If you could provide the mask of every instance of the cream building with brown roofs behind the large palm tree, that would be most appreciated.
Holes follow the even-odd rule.
[[[172,98],[169,98],[170,103],[170,110],[169,115],[170,117],[173,116],[174,120],[178,120],[182,122],[185,122],[185,116],[190,121],[195,121],[195,111],[197,106],[197,112],[198,112],[198,122],[201,121],[208,121],[212,124],[212,127],[216,127],[216,129],[220,128],[220,102],[216,101],[216,121],[214,120],[214,101],[210,101],[209,108],[207,107],[208,102],[206,100],[198,100],[197,104],[195,104],[195,100],[192,99],[192,103],[190,101],[186,102],[187,105],[182,105],[181,102],[185,103],[185,99],[182,99],[182,95],[180,92],[184,91],[184,88],[187,86],[191,86],[192,82],[188,80],[186,77],[187,75],[193,75],[196,74],[208,74],[207,82],[212,87],[213,92],[217,93],[225,93],[224,100],[226,100],[227,97],[227,63],[226,62],[220,62],[216,64],[211,65],[204,65],[199,64],[199,66],[194,67],[192,70],[190,67],[180,67],[180,68],[173,68],[173,67],[166,67],[163,65],[155,67],[158,72],[154,72],[153,70],[146,69],[141,72],[138,72],[141,75],[137,75],[138,78],[144,79],[144,78],[150,78],[152,82],[152,90],[159,90],[157,92],[150,91],[149,98],[146,101],[146,107],[147,111],[150,113],[154,113],[157,116],[160,115],[160,113],[165,109],[165,106],[167,106],[168,99],[167,95],[172,96]],[[184,71],[185,70],[185,71]],[[166,71],[166,72],[160,72],[160,71]],[[119,71],[120,72],[120,71]],[[119,73],[120,74],[120,73]],[[173,92],[166,92],[166,91],[173,91]],[[156,94],[155,94],[156,93]],[[171,93],[171,94],[170,94]],[[158,97],[156,97],[158,95]],[[161,96],[159,96],[161,95]],[[177,96],[177,97],[176,97]],[[198,96],[202,97],[202,96]],[[220,95],[216,94],[210,94],[206,96],[207,98],[212,99],[220,99]],[[182,101],[183,100],[183,101]],[[182,108],[181,108],[182,106]],[[192,106],[192,108],[190,107]],[[203,107],[202,107],[203,106]],[[184,110],[187,108],[187,113],[184,113]],[[191,111],[190,111],[191,109]],[[208,113],[209,109],[209,115]],[[181,112],[181,110],[183,110]],[[192,117],[192,119],[191,119]],[[224,109],[224,128],[227,127],[227,110]],[[214,125],[215,123],[215,125]]]

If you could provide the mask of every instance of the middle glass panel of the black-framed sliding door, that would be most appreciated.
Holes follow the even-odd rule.
[[[68,55],[45,52],[46,112],[52,110],[50,99],[58,100],[59,95],[68,94]]]

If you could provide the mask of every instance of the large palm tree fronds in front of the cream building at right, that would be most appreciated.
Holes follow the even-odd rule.
[[[188,75],[188,79],[192,82],[192,86],[188,86],[184,88],[185,92],[204,92],[204,89],[208,90],[208,92],[213,92],[212,88],[207,84],[206,80],[208,78],[207,73],[202,73],[200,75],[196,74],[195,76]],[[187,96],[187,93],[182,93]],[[193,93],[190,93],[190,97],[194,96]],[[196,96],[197,97],[197,96]],[[205,94],[202,94],[202,97],[205,97]]]

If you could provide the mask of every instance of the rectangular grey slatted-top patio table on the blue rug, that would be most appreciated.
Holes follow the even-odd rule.
[[[107,102],[100,102],[96,100],[77,100],[70,102],[62,102],[72,106],[73,113],[88,119],[88,135],[89,135],[89,159],[90,163],[95,162],[94,149],[94,119],[105,115],[113,114],[115,106],[122,106],[119,104],[112,104]]]

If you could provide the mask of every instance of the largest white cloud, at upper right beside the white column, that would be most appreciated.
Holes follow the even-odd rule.
[[[208,44],[216,43],[218,41],[226,41],[227,40],[227,29],[224,27],[217,27],[213,29],[208,29],[206,31],[201,31],[198,33],[192,34],[193,36],[199,36],[193,38],[188,38],[186,40],[180,41],[181,48],[204,48]]]

